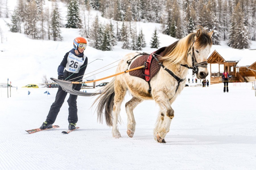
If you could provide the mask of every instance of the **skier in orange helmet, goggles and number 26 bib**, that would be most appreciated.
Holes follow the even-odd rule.
[[[79,76],[84,75],[85,69],[87,67],[88,58],[84,55],[84,50],[87,46],[87,41],[84,37],[77,37],[73,41],[74,48],[67,52],[61,61],[57,71],[59,80],[70,80],[79,81],[82,79]],[[65,71],[64,71],[65,69]],[[78,78],[77,78],[78,77]],[[80,80],[81,81],[81,80]],[[75,90],[80,90],[82,84],[73,84]],[[52,124],[55,122],[59,110],[64,103],[67,92],[65,92],[60,86],[58,88],[55,101],[51,105],[50,111],[47,115],[45,122],[42,124],[40,129],[51,128]],[[76,123],[78,121],[77,117],[77,95],[69,94],[69,99],[67,100],[69,105],[69,130],[76,129]]]

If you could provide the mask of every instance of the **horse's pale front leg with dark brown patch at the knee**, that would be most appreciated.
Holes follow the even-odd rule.
[[[154,99],[160,107],[156,127],[154,129],[154,137],[159,143],[166,143],[164,137],[170,131],[172,118],[174,118],[174,110],[171,107],[168,96],[163,92],[158,92]]]

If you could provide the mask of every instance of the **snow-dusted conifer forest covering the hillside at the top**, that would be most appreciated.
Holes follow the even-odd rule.
[[[249,48],[250,40],[256,40],[256,0],[61,0],[67,8],[64,18],[59,15],[58,0],[51,2],[17,0],[15,10],[10,11],[12,1],[1,0],[0,16],[11,17],[12,32],[32,39],[61,41],[60,27],[80,28],[81,35],[103,51],[112,50],[116,41],[122,41],[124,49],[141,49],[145,42],[143,30],[137,32],[137,21],[160,23],[162,33],[177,39],[201,25],[214,30],[214,45],[224,40],[238,49]],[[92,18],[90,9],[111,20]]]

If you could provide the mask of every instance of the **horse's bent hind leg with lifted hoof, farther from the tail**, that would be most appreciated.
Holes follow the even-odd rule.
[[[128,119],[127,135],[129,137],[133,137],[133,134],[135,132],[135,126],[136,126],[135,118],[133,115],[133,109],[142,101],[143,99],[133,96],[133,98],[125,104],[125,110],[126,110],[127,119]]]

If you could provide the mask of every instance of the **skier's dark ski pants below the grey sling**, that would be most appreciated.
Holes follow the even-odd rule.
[[[62,104],[65,101],[65,98],[67,96],[67,92],[62,90],[61,86],[59,86],[55,101],[52,103],[50,111],[47,115],[47,119],[50,121],[51,124],[53,124],[57,118],[57,115],[59,113],[59,110],[62,106]],[[77,95],[69,94],[69,99],[67,100],[69,104],[69,117],[68,121],[69,123],[77,123],[78,117],[77,117]]]

